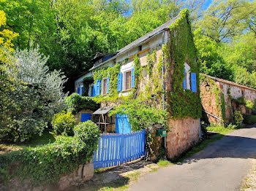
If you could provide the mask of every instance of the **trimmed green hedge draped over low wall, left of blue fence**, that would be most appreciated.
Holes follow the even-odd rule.
[[[34,185],[50,184],[91,160],[97,149],[99,128],[91,121],[74,128],[74,137],[61,137],[53,144],[0,155],[1,178],[20,177]],[[12,165],[18,163],[15,168]],[[10,171],[12,169],[12,171]],[[5,172],[4,174],[2,172]]]

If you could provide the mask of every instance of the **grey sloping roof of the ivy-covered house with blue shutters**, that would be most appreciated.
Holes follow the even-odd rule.
[[[139,46],[140,44],[142,44],[143,42],[146,42],[146,40],[151,39],[151,37],[156,36],[157,34],[161,33],[162,31],[165,31],[166,29],[169,29],[169,26],[172,23],[176,22],[176,19],[180,17],[180,15],[177,15],[176,17],[173,17],[172,19],[170,19],[169,21],[167,21],[166,23],[162,24],[162,26],[157,27],[156,29],[154,29],[153,31],[149,32],[148,34],[145,34],[144,36],[141,36],[139,39],[135,40],[134,42],[128,44],[127,46],[121,48],[120,50],[117,51],[117,55],[113,56],[112,58],[108,59],[108,61],[111,61],[113,59],[115,59],[118,55],[123,54],[124,52],[127,52],[128,50],[132,49],[133,47]],[[102,66],[106,63],[102,62],[97,66],[93,66],[91,69],[89,69],[89,71]]]

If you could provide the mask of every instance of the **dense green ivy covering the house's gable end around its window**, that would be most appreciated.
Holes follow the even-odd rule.
[[[180,17],[170,28],[170,58],[173,60],[173,89],[168,96],[170,98],[170,113],[174,118],[201,116],[199,77],[197,76],[197,93],[184,90],[184,63],[191,67],[190,71],[199,73],[197,54],[193,42],[192,31],[189,23],[188,9],[183,9]],[[169,45],[170,45],[169,44]],[[172,68],[171,68],[172,67]]]

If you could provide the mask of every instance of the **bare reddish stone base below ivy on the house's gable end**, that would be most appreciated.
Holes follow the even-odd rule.
[[[172,159],[191,148],[199,141],[199,119],[192,117],[181,120],[168,120],[170,131],[167,133],[167,158]]]

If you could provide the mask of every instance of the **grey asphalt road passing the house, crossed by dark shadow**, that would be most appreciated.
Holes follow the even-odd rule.
[[[256,128],[236,130],[184,163],[142,176],[128,190],[240,190],[252,158],[256,158]]]

